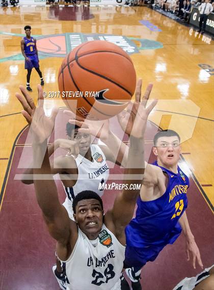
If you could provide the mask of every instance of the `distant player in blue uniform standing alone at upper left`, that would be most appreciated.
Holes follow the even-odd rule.
[[[36,47],[36,39],[31,37],[31,27],[30,25],[26,25],[24,27],[24,31],[26,36],[21,40],[21,52],[25,59],[24,68],[28,70],[28,74],[26,75],[26,89],[29,92],[32,92],[32,88],[30,87],[30,77],[32,69],[35,68],[38,72],[41,80],[41,86],[44,86],[44,80],[42,77],[42,72],[39,68],[39,58],[38,51]]]

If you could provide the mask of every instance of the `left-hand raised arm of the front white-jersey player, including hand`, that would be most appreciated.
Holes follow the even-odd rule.
[[[23,87],[20,89],[22,94],[25,94],[25,89]],[[16,94],[17,97],[18,95]],[[28,121],[32,134],[34,186],[37,202],[42,210],[50,235],[58,241],[58,245],[63,249],[61,258],[66,259],[72,251],[72,245],[77,240],[77,227],[69,219],[66,209],[59,202],[47,152],[47,139],[52,133],[58,110],[53,109],[51,117],[47,118],[43,110],[43,101],[42,88],[38,86],[39,106],[34,109],[34,117],[32,118],[26,110],[21,113]],[[42,178],[44,174],[48,176],[45,180]],[[70,241],[73,243],[68,249]]]

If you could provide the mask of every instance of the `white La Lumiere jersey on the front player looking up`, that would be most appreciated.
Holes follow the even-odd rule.
[[[78,228],[78,239],[66,262],[66,290],[121,290],[125,247],[103,224],[96,240],[90,241]]]

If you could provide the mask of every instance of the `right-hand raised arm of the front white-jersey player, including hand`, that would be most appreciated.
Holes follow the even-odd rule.
[[[137,87],[141,89],[142,81],[139,80]],[[125,245],[124,228],[133,217],[137,197],[140,193],[140,186],[143,179],[145,161],[144,161],[144,134],[149,113],[156,104],[154,100],[147,108],[146,103],[149,98],[144,95],[141,100],[141,90],[136,94],[136,101],[133,103],[131,111],[127,110],[124,118],[126,122],[125,133],[130,136],[130,147],[128,160],[125,169],[124,183],[126,187],[119,194],[114,202],[114,206],[105,214],[105,224],[113,229],[119,241]],[[128,114],[129,113],[129,114]]]

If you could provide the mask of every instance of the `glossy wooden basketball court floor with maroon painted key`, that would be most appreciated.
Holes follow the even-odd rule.
[[[51,268],[55,241],[48,233],[36,203],[33,186],[19,180],[21,162],[30,160],[28,128],[15,98],[25,85],[20,51],[23,27],[32,26],[37,39],[44,90],[58,91],[58,70],[70,49],[87,40],[116,42],[130,55],[143,90],[153,83],[150,98],[159,102],[146,132],[147,159],[158,128],[171,128],[181,136],[180,166],[190,177],[187,215],[199,246],[204,268],[213,264],[213,41],[147,7],[16,7],[1,8],[1,113],[0,113],[0,289],[57,290]],[[103,68],[104,69],[104,68]],[[37,100],[39,76],[32,72],[31,95]],[[59,98],[45,100],[49,112]],[[65,122],[60,137],[65,137]],[[59,126],[59,124],[58,124]],[[117,127],[115,128],[117,133]],[[124,139],[125,140],[125,139]],[[24,154],[23,154],[24,152]],[[111,173],[122,172],[115,167]],[[112,182],[112,180],[109,180]],[[60,198],[65,198],[57,181]],[[117,192],[106,191],[105,209]],[[201,272],[186,261],[181,235],[142,271],[143,289],[171,290],[184,277]],[[80,274],[81,275],[81,274]]]

